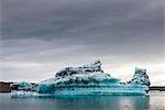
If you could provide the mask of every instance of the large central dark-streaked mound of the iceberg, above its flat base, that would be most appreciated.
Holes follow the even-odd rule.
[[[66,67],[59,70],[54,79],[38,84],[38,92],[53,92],[55,87],[67,86],[108,86],[119,85],[120,79],[112,78],[101,69],[100,61],[80,67]],[[48,89],[48,91],[45,90]]]

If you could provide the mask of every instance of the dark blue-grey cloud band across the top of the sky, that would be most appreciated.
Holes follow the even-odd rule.
[[[154,0],[20,1],[2,2],[3,38],[119,37],[163,28],[163,8]],[[155,8],[156,7],[156,8]],[[117,34],[117,35],[116,35]],[[110,36],[109,36],[110,35]]]

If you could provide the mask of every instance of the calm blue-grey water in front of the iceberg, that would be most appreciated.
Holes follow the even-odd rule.
[[[165,110],[165,94],[10,98],[0,94],[0,110]]]

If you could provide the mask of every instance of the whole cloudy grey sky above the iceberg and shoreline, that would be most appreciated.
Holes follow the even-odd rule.
[[[165,85],[164,0],[1,0],[0,80],[35,81],[100,59],[130,80]]]

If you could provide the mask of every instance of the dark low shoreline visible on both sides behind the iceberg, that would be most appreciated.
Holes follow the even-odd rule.
[[[13,82],[0,81],[0,92],[11,92],[10,85]],[[151,86],[150,90],[165,91],[165,86]]]

